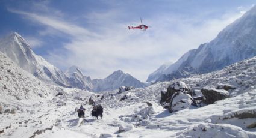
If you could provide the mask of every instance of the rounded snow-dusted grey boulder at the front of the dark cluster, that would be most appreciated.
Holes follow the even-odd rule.
[[[189,109],[192,104],[195,104],[195,102],[192,101],[192,97],[189,94],[184,94],[180,91],[173,94],[168,109],[169,112],[172,113],[183,109]]]

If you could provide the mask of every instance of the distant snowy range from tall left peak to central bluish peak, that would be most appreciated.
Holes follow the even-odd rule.
[[[7,55],[23,70],[28,71],[40,80],[60,86],[86,89],[88,91],[108,91],[119,86],[142,88],[146,85],[122,71],[115,71],[106,79],[94,79],[84,76],[80,68],[72,66],[65,73],[36,55],[27,41],[17,32],[13,32],[0,40],[0,51]]]

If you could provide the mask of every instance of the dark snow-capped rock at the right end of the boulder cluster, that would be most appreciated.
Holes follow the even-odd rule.
[[[201,89],[204,95],[203,103],[213,104],[215,101],[223,100],[229,97],[228,91],[224,89]]]

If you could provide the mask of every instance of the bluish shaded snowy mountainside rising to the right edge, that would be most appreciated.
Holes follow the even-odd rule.
[[[177,62],[149,75],[147,82],[208,73],[256,55],[256,6],[226,26],[210,43],[185,53]],[[159,72],[159,73],[158,73]]]

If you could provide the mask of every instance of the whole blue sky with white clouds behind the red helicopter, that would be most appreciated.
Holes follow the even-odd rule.
[[[255,1],[0,1],[0,37],[16,31],[61,70],[104,78],[123,70],[145,82],[166,62],[216,37]],[[151,26],[147,31],[128,26]]]

